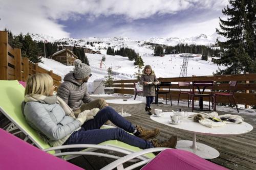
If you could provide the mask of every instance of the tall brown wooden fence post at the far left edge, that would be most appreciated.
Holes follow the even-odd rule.
[[[0,80],[8,80],[8,33],[0,31]]]

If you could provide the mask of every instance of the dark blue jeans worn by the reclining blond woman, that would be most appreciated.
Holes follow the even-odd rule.
[[[107,120],[118,128],[99,129]],[[101,109],[94,119],[88,120],[81,129],[71,134],[63,144],[99,144],[107,140],[119,140],[141,149],[153,148],[151,141],[131,135],[135,131],[131,122],[119,115],[112,107]],[[127,133],[127,132],[130,133]]]

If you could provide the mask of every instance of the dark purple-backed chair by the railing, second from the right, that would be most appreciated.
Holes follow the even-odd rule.
[[[215,108],[215,103],[214,103],[214,95],[212,94],[212,90],[214,88],[214,81],[194,81],[192,83],[193,86],[193,93],[189,94],[192,97],[192,112],[194,112],[194,100],[195,97],[199,98],[199,106],[200,110],[203,110],[203,98],[208,98],[209,99],[209,110],[210,110],[210,99],[212,99],[212,106],[214,107],[214,111],[216,110]],[[204,93],[205,88],[209,87],[210,88],[210,93],[206,94]],[[198,89],[198,92],[196,93],[195,89]]]

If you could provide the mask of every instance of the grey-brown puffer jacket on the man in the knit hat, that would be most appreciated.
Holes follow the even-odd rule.
[[[80,109],[83,103],[93,101],[87,91],[87,84],[76,81],[73,72],[69,72],[64,77],[64,82],[58,88],[57,96],[65,101],[73,111]]]

